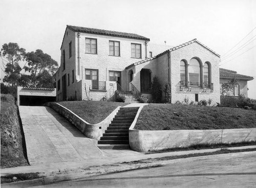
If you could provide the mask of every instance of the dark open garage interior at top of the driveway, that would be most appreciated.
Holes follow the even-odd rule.
[[[19,96],[22,106],[42,106],[46,102],[54,102],[56,97],[47,96]]]

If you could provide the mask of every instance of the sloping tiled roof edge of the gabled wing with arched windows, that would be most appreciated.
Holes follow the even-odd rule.
[[[188,42],[185,42],[185,43],[183,43],[183,44],[174,46],[173,48],[171,48],[171,49],[169,49],[169,50],[166,50],[166,51],[164,51],[164,52],[162,52],[162,53],[156,55],[155,57],[152,57],[152,58],[149,58],[149,59],[145,59],[145,60],[142,60],[142,61],[133,63],[133,64],[131,64],[131,65],[129,65],[129,66],[126,66],[125,68],[127,69],[127,68],[130,68],[130,67],[133,66],[133,65],[138,65],[138,64],[141,64],[141,63],[145,63],[145,62],[150,61],[150,60],[152,60],[152,59],[158,58],[159,56],[161,56],[161,55],[163,55],[163,54],[165,54],[165,53],[167,53],[167,52],[172,52],[172,51],[178,50],[178,49],[180,49],[180,48],[182,48],[182,47],[184,47],[184,46],[187,46],[187,45],[189,45],[189,44],[191,44],[191,43],[194,43],[194,42],[197,42],[198,44],[202,45],[202,46],[203,46],[204,48],[206,48],[207,50],[211,51],[212,53],[214,53],[215,55],[217,55],[218,57],[220,57],[219,54],[217,54],[215,51],[211,50],[210,48],[208,48],[206,45],[204,45],[203,43],[199,42],[199,41],[195,38],[195,39],[189,40]]]

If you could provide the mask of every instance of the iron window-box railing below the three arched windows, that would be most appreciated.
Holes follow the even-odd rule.
[[[186,91],[213,91],[214,90],[214,83],[208,83],[208,82],[186,82],[186,81],[180,81],[179,82],[180,91],[186,90]]]

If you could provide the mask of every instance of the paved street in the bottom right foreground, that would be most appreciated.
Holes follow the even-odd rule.
[[[31,187],[256,187],[255,154],[176,159],[156,168]]]

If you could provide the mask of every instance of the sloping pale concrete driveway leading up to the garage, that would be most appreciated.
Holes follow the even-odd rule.
[[[30,165],[102,158],[97,140],[84,136],[45,106],[19,106]]]

